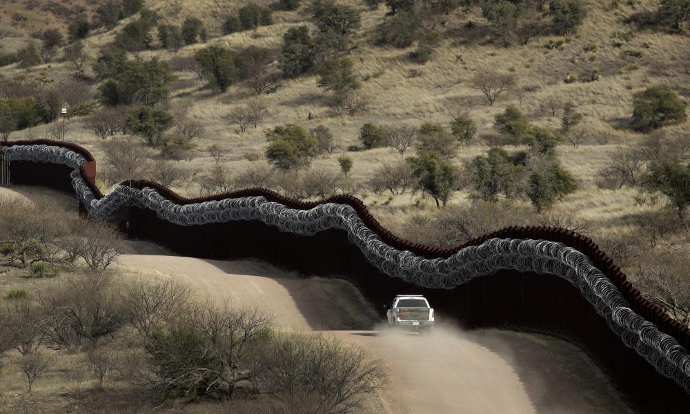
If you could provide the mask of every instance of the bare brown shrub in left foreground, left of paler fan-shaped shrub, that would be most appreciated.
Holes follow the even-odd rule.
[[[66,277],[41,295],[48,345],[65,348],[86,342],[96,346],[101,338],[119,331],[130,319],[119,290],[120,282],[112,274],[86,273]]]

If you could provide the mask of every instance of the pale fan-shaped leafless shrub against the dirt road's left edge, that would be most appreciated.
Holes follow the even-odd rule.
[[[130,311],[130,322],[148,338],[155,328],[166,326],[190,304],[192,290],[173,277],[137,276],[124,284],[120,295]]]

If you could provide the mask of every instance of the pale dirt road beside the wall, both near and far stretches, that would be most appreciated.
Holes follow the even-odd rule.
[[[259,306],[277,326],[328,331],[383,359],[390,376],[367,411],[383,413],[628,413],[582,351],[560,339],[509,331],[429,336],[389,331],[359,292],[337,279],[301,279],[257,262],[124,255],[129,272],[174,275],[208,297]],[[362,311],[364,309],[364,311]],[[354,331],[357,330],[357,331]]]

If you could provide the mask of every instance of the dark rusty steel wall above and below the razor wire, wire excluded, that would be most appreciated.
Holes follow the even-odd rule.
[[[90,153],[73,144],[55,141],[12,141],[0,146],[47,144],[79,152],[87,159],[81,176],[97,198],[103,194],[95,186],[95,161]],[[10,181],[16,185],[39,185],[73,195],[71,168],[50,163],[12,161]],[[319,202],[302,202],[277,193],[250,188],[211,197],[187,199],[150,181],[127,181],[133,188],[153,188],[176,204],[261,195],[290,208],[308,209]],[[544,226],[513,226],[469,240],[452,248],[433,248],[400,239],[381,226],[364,203],[356,197],[339,195],[323,202],[352,206],[366,226],[382,241],[422,257],[448,257],[465,246],[494,237],[544,239],[561,242],[584,253],[591,263],[613,282],[635,313],[674,337],[690,349],[690,332],[661,308],[640,295],[613,261],[591,239],[570,230]],[[83,208],[83,206],[82,206]],[[420,288],[393,279],[377,270],[341,230],[326,230],[313,236],[285,233],[262,221],[229,221],[197,226],[179,226],[157,217],[152,210],[122,206],[113,219],[128,237],[146,239],[180,255],[208,259],[261,259],[304,275],[343,277],[362,290],[378,311],[400,293],[422,293],[433,304],[439,319],[455,319],[465,328],[506,327],[548,333],[571,340],[584,348],[611,375],[623,395],[644,413],[690,412],[690,395],[673,380],[660,375],[633,349],[624,345],[577,288],[552,275],[501,270],[473,279],[451,290]],[[299,306],[299,304],[298,304]]]

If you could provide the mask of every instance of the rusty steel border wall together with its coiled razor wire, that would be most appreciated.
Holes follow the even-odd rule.
[[[396,237],[349,195],[301,202],[253,188],[186,199],[149,181],[103,195],[95,161],[79,146],[14,141],[4,156],[18,167],[12,179],[69,183],[83,213],[114,217],[132,237],[184,255],[257,257],[341,275],[374,302],[400,289],[423,291],[466,326],[529,325],[579,339],[631,398],[657,412],[678,412],[689,402],[687,327],[644,299],[591,239],[569,230],[513,226],[433,248]],[[46,177],[55,164],[64,168],[60,182]]]

